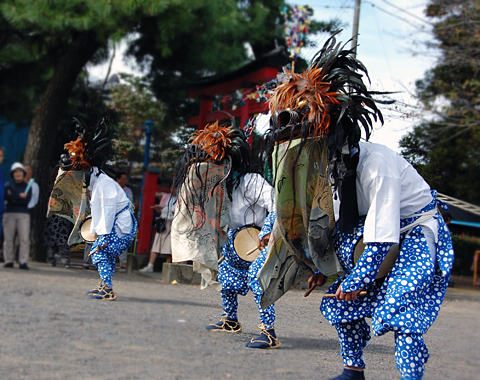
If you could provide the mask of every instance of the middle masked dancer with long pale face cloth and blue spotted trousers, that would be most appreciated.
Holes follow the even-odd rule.
[[[193,135],[177,172],[181,191],[172,225],[173,259],[193,260],[194,269],[202,273],[202,286],[215,285],[218,271],[224,313],[207,330],[241,332],[238,295],[251,290],[259,308],[261,333],[246,346],[277,348],[274,305],[265,310],[260,307],[262,290],[257,280],[275,221],[273,188],[261,175],[250,172],[246,140],[240,129],[218,122]],[[248,226],[258,229],[252,236],[261,250],[253,262],[239,257],[234,248],[236,234]]]

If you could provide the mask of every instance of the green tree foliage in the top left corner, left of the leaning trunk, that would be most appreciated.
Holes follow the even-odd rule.
[[[0,3],[0,114],[33,116],[59,59],[82,32],[97,41],[123,37],[140,15],[158,14],[166,1],[3,0]],[[96,58],[98,59],[99,56]],[[54,110],[61,116],[64,110]],[[71,115],[70,115],[71,116]]]

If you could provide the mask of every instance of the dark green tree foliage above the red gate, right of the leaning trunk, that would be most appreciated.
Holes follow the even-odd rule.
[[[130,42],[129,54],[149,67],[148,80],[167,108],[165,123],[182,125],[198,112],[188,99],[188,80],[239,67],[248,59],[249,38],[269,40],[252,32],[266,12],[248,19],[247,4],[238,3],[209,0],[175,6],[162,16],[143,18],[134,29],[138,38]]]

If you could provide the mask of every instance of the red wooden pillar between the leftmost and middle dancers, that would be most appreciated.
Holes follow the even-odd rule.
[[[145,172],[145,182],[142,189],[142,209],[140,210],[140,225],[137,235],[137,255],[150,253],[150,238],[152,237],[153,208],[155,191],[157,190],[157,173]]]

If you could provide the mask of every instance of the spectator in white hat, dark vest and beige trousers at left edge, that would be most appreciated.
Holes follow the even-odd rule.
[[[10,170],[13,181],[5,186],[7,206],[3,215],[3,254],[5,268],[13,268],[15,233],[20,242],[20,269],[30,269],[27,265],[30,254],[30,211],[28,204],[32,193],[26,193],[27,184],[24,179],[27,171],[20,162],[15,162]]]

